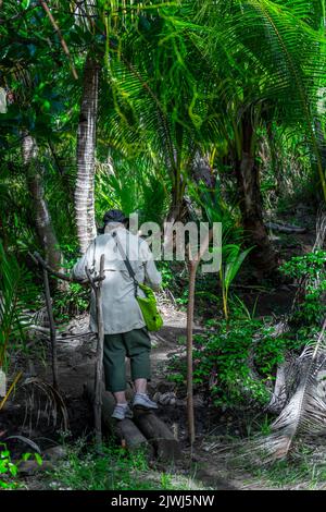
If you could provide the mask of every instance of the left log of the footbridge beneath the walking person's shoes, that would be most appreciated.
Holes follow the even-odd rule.
[[[92,404],[95,400],[93,383],[87,382],[84,385],[84,397]],[[109,391],[102,391],[102,425],[104,430],[121,439],[122,443],[129,450],[143,448],[148,455],[153,454],[152,447],[148,443],[146,437],[141,434],[138,427],[131,419],[123,419],[117,422],[112,418],[115,406],[115,400]]]

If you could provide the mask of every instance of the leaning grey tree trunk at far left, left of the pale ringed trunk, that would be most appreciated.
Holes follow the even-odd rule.
[[[60,270],[63,258],[45,197],[41,171],[39,166],[37,166],[37,144],[30,135],[24,135],[22,153],[23,161],[27,169],[27,186],[32,197],[36,232],[45,251],[47,263],[55,270]]]

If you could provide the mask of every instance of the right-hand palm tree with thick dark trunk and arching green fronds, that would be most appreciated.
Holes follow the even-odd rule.
[[[220,111],[221,133],[228,141],[242,224],[248,244],[255,245],[251,258],[263,272],[273,271],[277,263],[263,221],[256,161],[261,127],[275,121],[292,132],[304,133],[326,197],[314,127],[319,78],[325,74],[325,46],[310,26],[323,15],[317,3],[303,0],[290,5],[283,0],[197,3],[197,19],[209,28],[204,56],[221,84],[216,112]]]

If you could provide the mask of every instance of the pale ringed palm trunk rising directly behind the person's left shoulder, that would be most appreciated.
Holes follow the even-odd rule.
[[[86,252],[96,236],[93,182],[98,84],[99,66],[91,57],[87,57],[77,134],[77,180],[75,190],[77,237],[82,254]]]

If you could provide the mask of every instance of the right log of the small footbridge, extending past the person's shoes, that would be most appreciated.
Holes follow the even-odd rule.
[[[155,456],[162,462],[173,462],[181,456],[177,439],[170,428],[152,411],[134,409],[134,422],[139,430],[150,441],[155,451]]]

